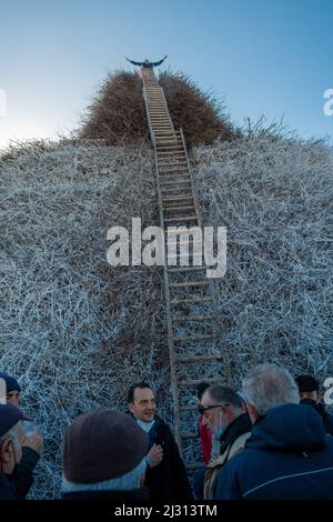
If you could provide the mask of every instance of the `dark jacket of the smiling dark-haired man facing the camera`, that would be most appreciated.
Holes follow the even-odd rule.
[[[155,415],[155,423],[149,432],[150,448],[157,443],[163,448],[163,460],[145,472],[144,485],[151,500],[191,500],[193,493],[176,442],[165,422]]]

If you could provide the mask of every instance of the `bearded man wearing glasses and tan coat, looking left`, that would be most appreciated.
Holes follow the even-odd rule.
[[[202,395],[199,412],[203,422],[213,434],[219,452],[206,465],[203,498],[212,500],[216,478],[223,465],[236,453],[244,449],[251,433],[251,420],[244,410],[244,402],[238,392],[229,387],[213,384]]]

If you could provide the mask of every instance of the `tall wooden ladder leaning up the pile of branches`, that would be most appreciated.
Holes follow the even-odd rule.
[[[168,227],[181,225],[200,227],[202,230],[182,129],[176,131],[173,128],[163,89],[159,86],[153,70],[141,69],[141,72],[155,157],[160,225],[165,232]],[[168,245],[172,243],[178,244],[175,255],[179,262],[181,242],[178,242],[176,234],[174,241],[168,241]],[[167,260],[167,240],[164,248]],[[191,248],[194,248],[193,241]],[[192,439],[198,439],[196,406],[190,401],[190,398],[193,398],[194,387],[202,381],[209,383],[231,381],[230,363],[223,350],[223,329],[216,313],[215,282],[205,277],[205,270],[204,263],[202,267],[176,268],[168,267],[167,262],[164,264],[175,440],[183,454],[184,445],[191,443]],[[185,333],[182,330],[185,330]],[[194,378],[189,379],[189,375],[193,374]],[[192,426],[192,431],[189,426]],[[191,451],[188,453],[191,455]],[[195,469],[198,463],[188,462],[186,466]]]

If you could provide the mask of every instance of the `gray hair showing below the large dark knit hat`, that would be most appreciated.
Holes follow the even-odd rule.
[[[93,484],[77,484],[70,482],[62,475],[62,492],[70,493],[73,491],[129,491],[140,488],[140,481],[145,472],[145,458],[129,473],[117,479],[95,482]]]

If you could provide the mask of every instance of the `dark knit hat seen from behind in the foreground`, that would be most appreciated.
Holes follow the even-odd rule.
[[[148,446],[148,434],[132,416],[114,410],[91,411],[75,419],[65,432],[64,476],[79,484],[117,479],[141,462]]]

